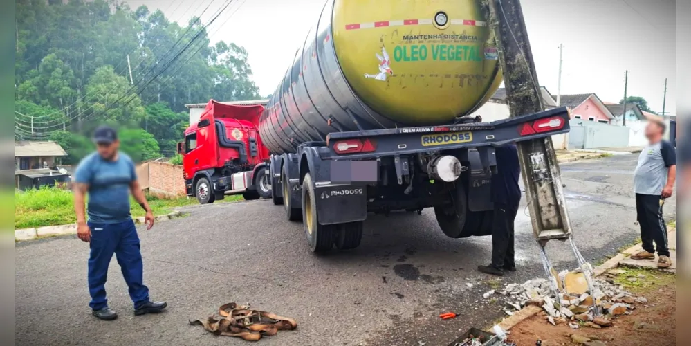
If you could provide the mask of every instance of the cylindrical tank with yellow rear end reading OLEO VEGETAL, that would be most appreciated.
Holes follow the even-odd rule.
[[[501,84],[479,0],[329,0],[261,116],[274,154],[335,131],[441,125]]]

